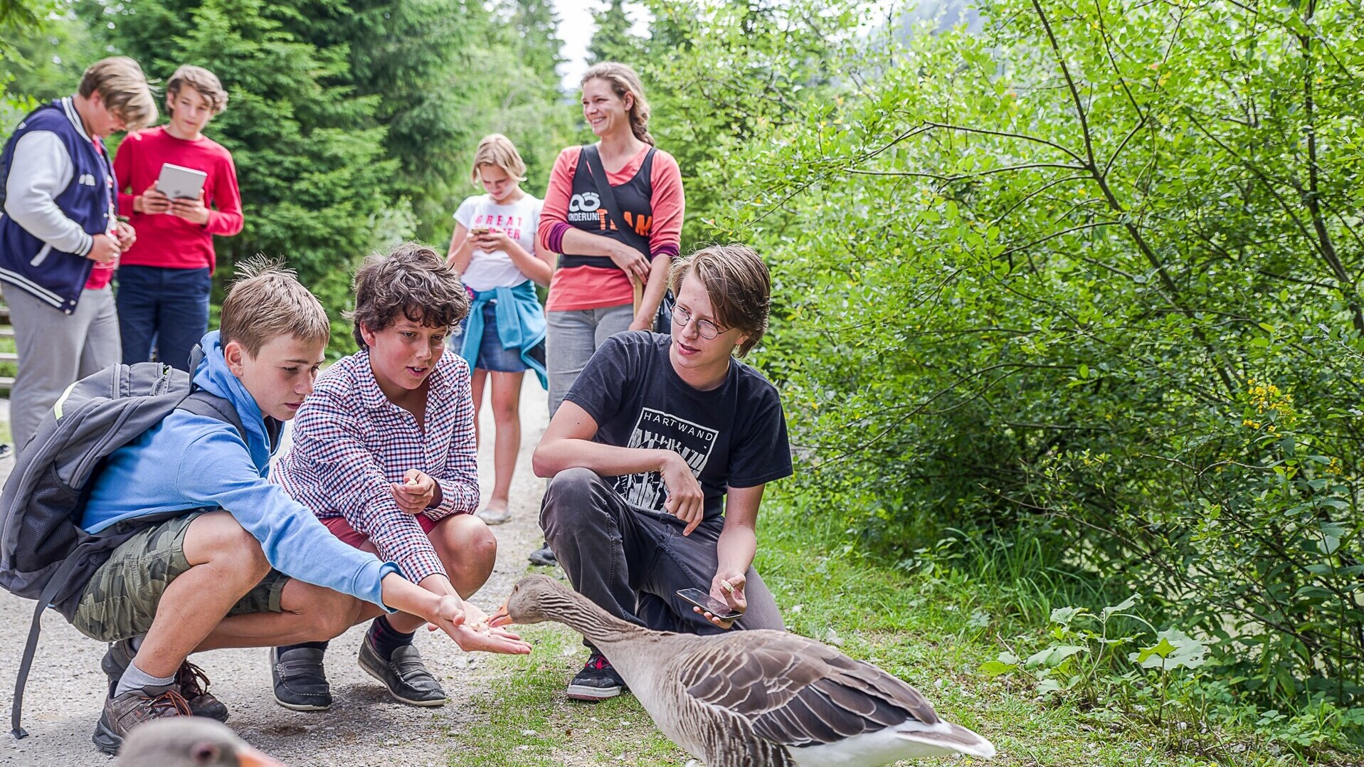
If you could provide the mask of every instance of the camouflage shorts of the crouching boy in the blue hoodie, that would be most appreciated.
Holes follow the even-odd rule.
[[[169,519],[124,540],[90,577],[71,625],[100,641],[147,633],[166,585],[190,569],[184,532],[202,513]],[[288,580],[289,576],[270,570],[228,614],[281,611],[280,594]]]

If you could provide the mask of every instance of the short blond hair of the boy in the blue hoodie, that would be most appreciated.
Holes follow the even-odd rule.
[[[293,269],[258,257],[237,266],[237,278],[222,302],[218,334],[224,347],[236,341],[255,358],[280,336],[325,344],[331,323],[322,302],[299,283]]]

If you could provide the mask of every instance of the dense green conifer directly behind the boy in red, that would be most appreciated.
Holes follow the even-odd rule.
[[[91,11],[112,19],[110,42],[149,76],[198,64],[229,93],[228,111],[206,132],[232,151],[246,228],[216,243],[220,283],[237,259],[284,257],[326,306],[333,348],[352,348],[341,317],[351,267],[372,243],[398,164],[385,158],[379,98],[351,85],[348,46],[306,37],[326,10],[295,0],[150,0],[135,15],[131,5]]]

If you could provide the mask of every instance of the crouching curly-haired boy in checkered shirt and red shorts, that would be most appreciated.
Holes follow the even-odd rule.
[[[355,276],[360,351],[318,377],[299,408],[293,449],[276,480],[341,540],[398,564],[424,588],[468,599],[488,579],[496,539],[479,506],[469,367],[445,338],[469,311],[460,276],[432,248],[371,255]],[[465,621],[486,616],[465,603]],[[441,706],[445,691],[412,644],[426,622],[376,618],[360,667],[397,700]],[[480,635],[496,644],[495,635]],[[492,647],[465,647],[486,650]],[[276,647],[274,697],[296,711],[331,706],[326,643]]]

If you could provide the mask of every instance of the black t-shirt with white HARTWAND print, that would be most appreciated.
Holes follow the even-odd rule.
[[[726,487],[791,476],[791,446],[776,388],[739,360],[716,389],[700,392],[672,370],[670,336],[636,330],[606,340],[567,400],[597,423],[593,441],[679,453],[705,494],[705,516],[724,512]],[[666,513],[659,472],[607,478],[625,501]]]

